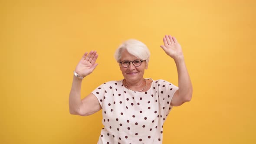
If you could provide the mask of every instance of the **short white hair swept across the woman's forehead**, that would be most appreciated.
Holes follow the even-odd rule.
[[[146,60],[146,62],[149,62],[150,52],[148,47],[136,40],[136,39],[128,39],[127,41],[123,42],[120,46],[118,46],[118,49],[115,51],[115,60],[117,62],[120,62],[121,59],[121,53],[123,50],[127,50],[131,55],[136,56],[139,59]]]

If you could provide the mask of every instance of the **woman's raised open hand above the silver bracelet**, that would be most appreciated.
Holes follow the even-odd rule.
[[[88,55],[87,54],[88,52],[85,52],[78,65],[75,67],[75,72],[82,77],[91,74],[98,65],[98,63],[95,63],[98,58],[97,52],[91,51]]]

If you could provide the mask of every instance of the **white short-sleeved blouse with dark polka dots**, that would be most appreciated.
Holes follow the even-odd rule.
[[[121,81],[100,85],[92,93],[102,106],[98,144],[162,144],[164,121],[177,86],[164,80],[152,82],[146,92],[131,91]]]

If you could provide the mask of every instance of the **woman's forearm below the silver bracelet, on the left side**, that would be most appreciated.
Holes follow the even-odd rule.
[[[79,112],[81,101],[81,85],[82,80],[73,76],[72,88],[69,93],[69,112],[70,114],[76,115]]]

